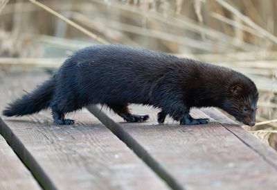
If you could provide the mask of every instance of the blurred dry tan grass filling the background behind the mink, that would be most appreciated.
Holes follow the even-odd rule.
[[[110,42],[231,67],[257,84],[262,123],[251,130],[277,148],[276,6],[274,0],[10,0],[0,12],[0,63],[54,67],[75,49]],[[37,59],[36,44],[51,58]]]

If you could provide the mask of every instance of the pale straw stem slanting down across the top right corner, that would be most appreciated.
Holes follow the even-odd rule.
[[[253,21],[251,21],[251,19],[249,19],[249,17],[243,15],[240,11],[233,8],[233,6],[231,6],[229,3],[226,3],[226,1],[224,1],[224,0],[215,0],[215,1],[217,1],[217,3],[220,3],[220,5],[222,7],[226,8],[227,10],[232,12],[235,16],[242,19],[242,21],[244,21],[246,24],[248,24],[249,26],[254,28],[257,32],[264,35],[264,37],[267,37],[269,40],[271,40],[272,42],[277,44],[277,37],[275,35],[272,35],[268,31],[266,31],[264,28],[258,26],[258,24],[254,23]]]

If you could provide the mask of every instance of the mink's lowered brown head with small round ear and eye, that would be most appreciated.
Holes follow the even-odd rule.
[[[224,110],[238,121],[248,126],[254,126],[259,98],[256,85],[247,78],[247,80],[239,80],[229,85],[228,91],[229,98],[227,98]]]

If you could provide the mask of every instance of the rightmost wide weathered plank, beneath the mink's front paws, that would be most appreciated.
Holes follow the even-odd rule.
[[[146,109],[133,108],[136,114],[146,114],[141,112]],[[172,121],[158,125],[157,111],[153,110],[149,111],[150,122],[145,123],[123,123],[108,113],[120,122],[113,123],[104,113],[93,113],[175,189],[277,189],[277,153],[224,114],[210,109],[193,110],[196,118],[207,118],[214,112],[212,122],[201,126],[181,126]],[[224,122],[213,122],[214,115]],[[269,156],[275,161],[269,158],[268,162]]]

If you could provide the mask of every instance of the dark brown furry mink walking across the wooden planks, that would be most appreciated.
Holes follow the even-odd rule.
[[[173,55],[123,45],[96,45],[80,49],[54,76],[30,94],[9,104],[3,114],[22,116],[51,107],[57,124],[73,124],[64,114],[89,104],[105,104],[125,121],[146,121],[131,114],[128,103],[161,108],[181,124],[202,124],[191,107],[220,107],[235,119],[255,125],[256,85],[236,71]]]

